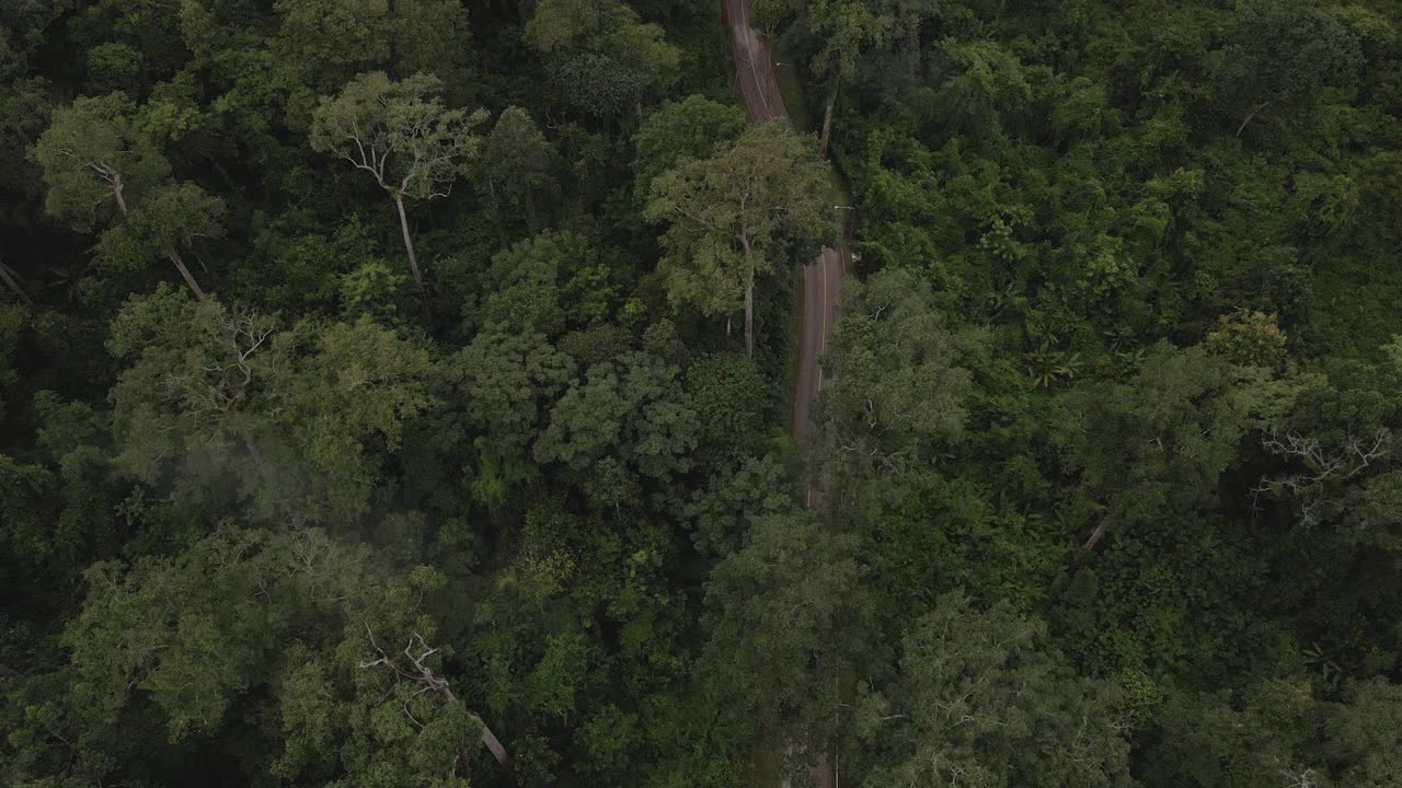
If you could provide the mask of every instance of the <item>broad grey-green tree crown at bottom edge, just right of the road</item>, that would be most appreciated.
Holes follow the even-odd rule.
[[[939,597],[901,639],[899,673],[866,694],[864,785],[1134,785],[1115,687],[1081,679],[1047,628],[1000,603]]]

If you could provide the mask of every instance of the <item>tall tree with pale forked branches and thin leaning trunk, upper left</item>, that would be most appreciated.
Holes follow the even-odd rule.
[[[428,290],[404,202],[447,196],[481,146],[474,129],[486,121],[485,109],[444,108],[436,98],[442,87],[430,74],[398,81],[384,72],[360,74],[335,98],[321,100],[311,125],[313,149],[367,172],[394,201],[409,272],[425,308]]]

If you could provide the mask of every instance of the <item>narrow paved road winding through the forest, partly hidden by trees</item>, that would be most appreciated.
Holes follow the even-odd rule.
[[[750,0],[721,0],[721,17],[730,34],[735,53],[735,76],[740,84],[744,114],[753,123],[789,122],[780,83],[774,77],[774,53],[750,27]],[[841,244],[838,244],[841,245]],[[794,381],[794,437],[808,432],[809,405],[823,388],[823,367],[819,358],[827,349],[827,337],[837,321],[837,301],[843,292],[844,255],[836,248],[823,248],[817,259],[803,266],[803,314],[799,328],[798,376]],[[819,502],[810,489],[808,503]],[[824,753],[813,768],[819,788],[834,788],[837,773]],[[788,781],[782,788],[789,788]]]

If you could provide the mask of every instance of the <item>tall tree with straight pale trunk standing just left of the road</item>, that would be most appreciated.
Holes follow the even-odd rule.
[[[646,216],[670,226],[669,296],[705,314],[742,307],[753,356],[754,287],[837,237],[829,193],[827,167],[781,123],[754,126],[658,177]]]

